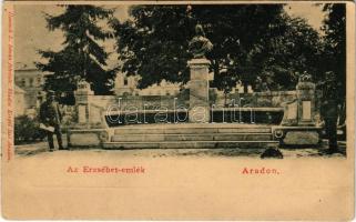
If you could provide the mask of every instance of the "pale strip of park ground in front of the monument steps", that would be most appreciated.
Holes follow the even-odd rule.
[[[63,137],[65,139],[65,137]],[[55,141],[55,138],[54,138]],[[67,141],[64,140],[64,145]],[[346,157],[346,144],[339,142],[340,153],[328,154],[327,143],[323,142],[319,148],[286,148],[281,149],[284,159],[293,158],[345,158]],[[112,155],[120,157],[139,157],[139,158],[169,158],[169,157],[230,157],[230,158],[260,158],[265,149],[134,149],[134,150],[103,150],[103,149],[81,149],[71,148],[70,150],[49,152],[47,141],[22,144],[16,147],[17,157],[32,157],[32,155],[71,155],[71,157],[85,157],[88,153],[111,153]]]

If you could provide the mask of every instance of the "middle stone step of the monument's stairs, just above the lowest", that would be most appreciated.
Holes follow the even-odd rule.
[[[111,142],[163,142],[163,141],[268,141],[271,133],[203,133],[203,134],[114,134]]]

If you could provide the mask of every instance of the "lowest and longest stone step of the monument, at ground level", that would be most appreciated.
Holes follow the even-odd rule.
[[[277,141],[173,141],[173,142],[105,142],[103,149],[220,149],[220,148],[266,148]]]

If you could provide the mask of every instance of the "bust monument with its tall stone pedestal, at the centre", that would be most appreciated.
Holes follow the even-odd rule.
[[[191,71],[190,80],[190,122],[210,122],[208,104],[208,65],[205,54],[213,49],[205,37],[201,24],[195,27],[195,37],[190,41],[189,51],[193,59],[187,62]]]

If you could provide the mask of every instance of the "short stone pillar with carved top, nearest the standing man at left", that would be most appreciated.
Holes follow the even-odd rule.
[[[78,114],[79,125],[90,127],[90,95],[94,92],[90,89],[90,84],[87,81],[80,81],[77,87],[75,95],[75,107]]]

